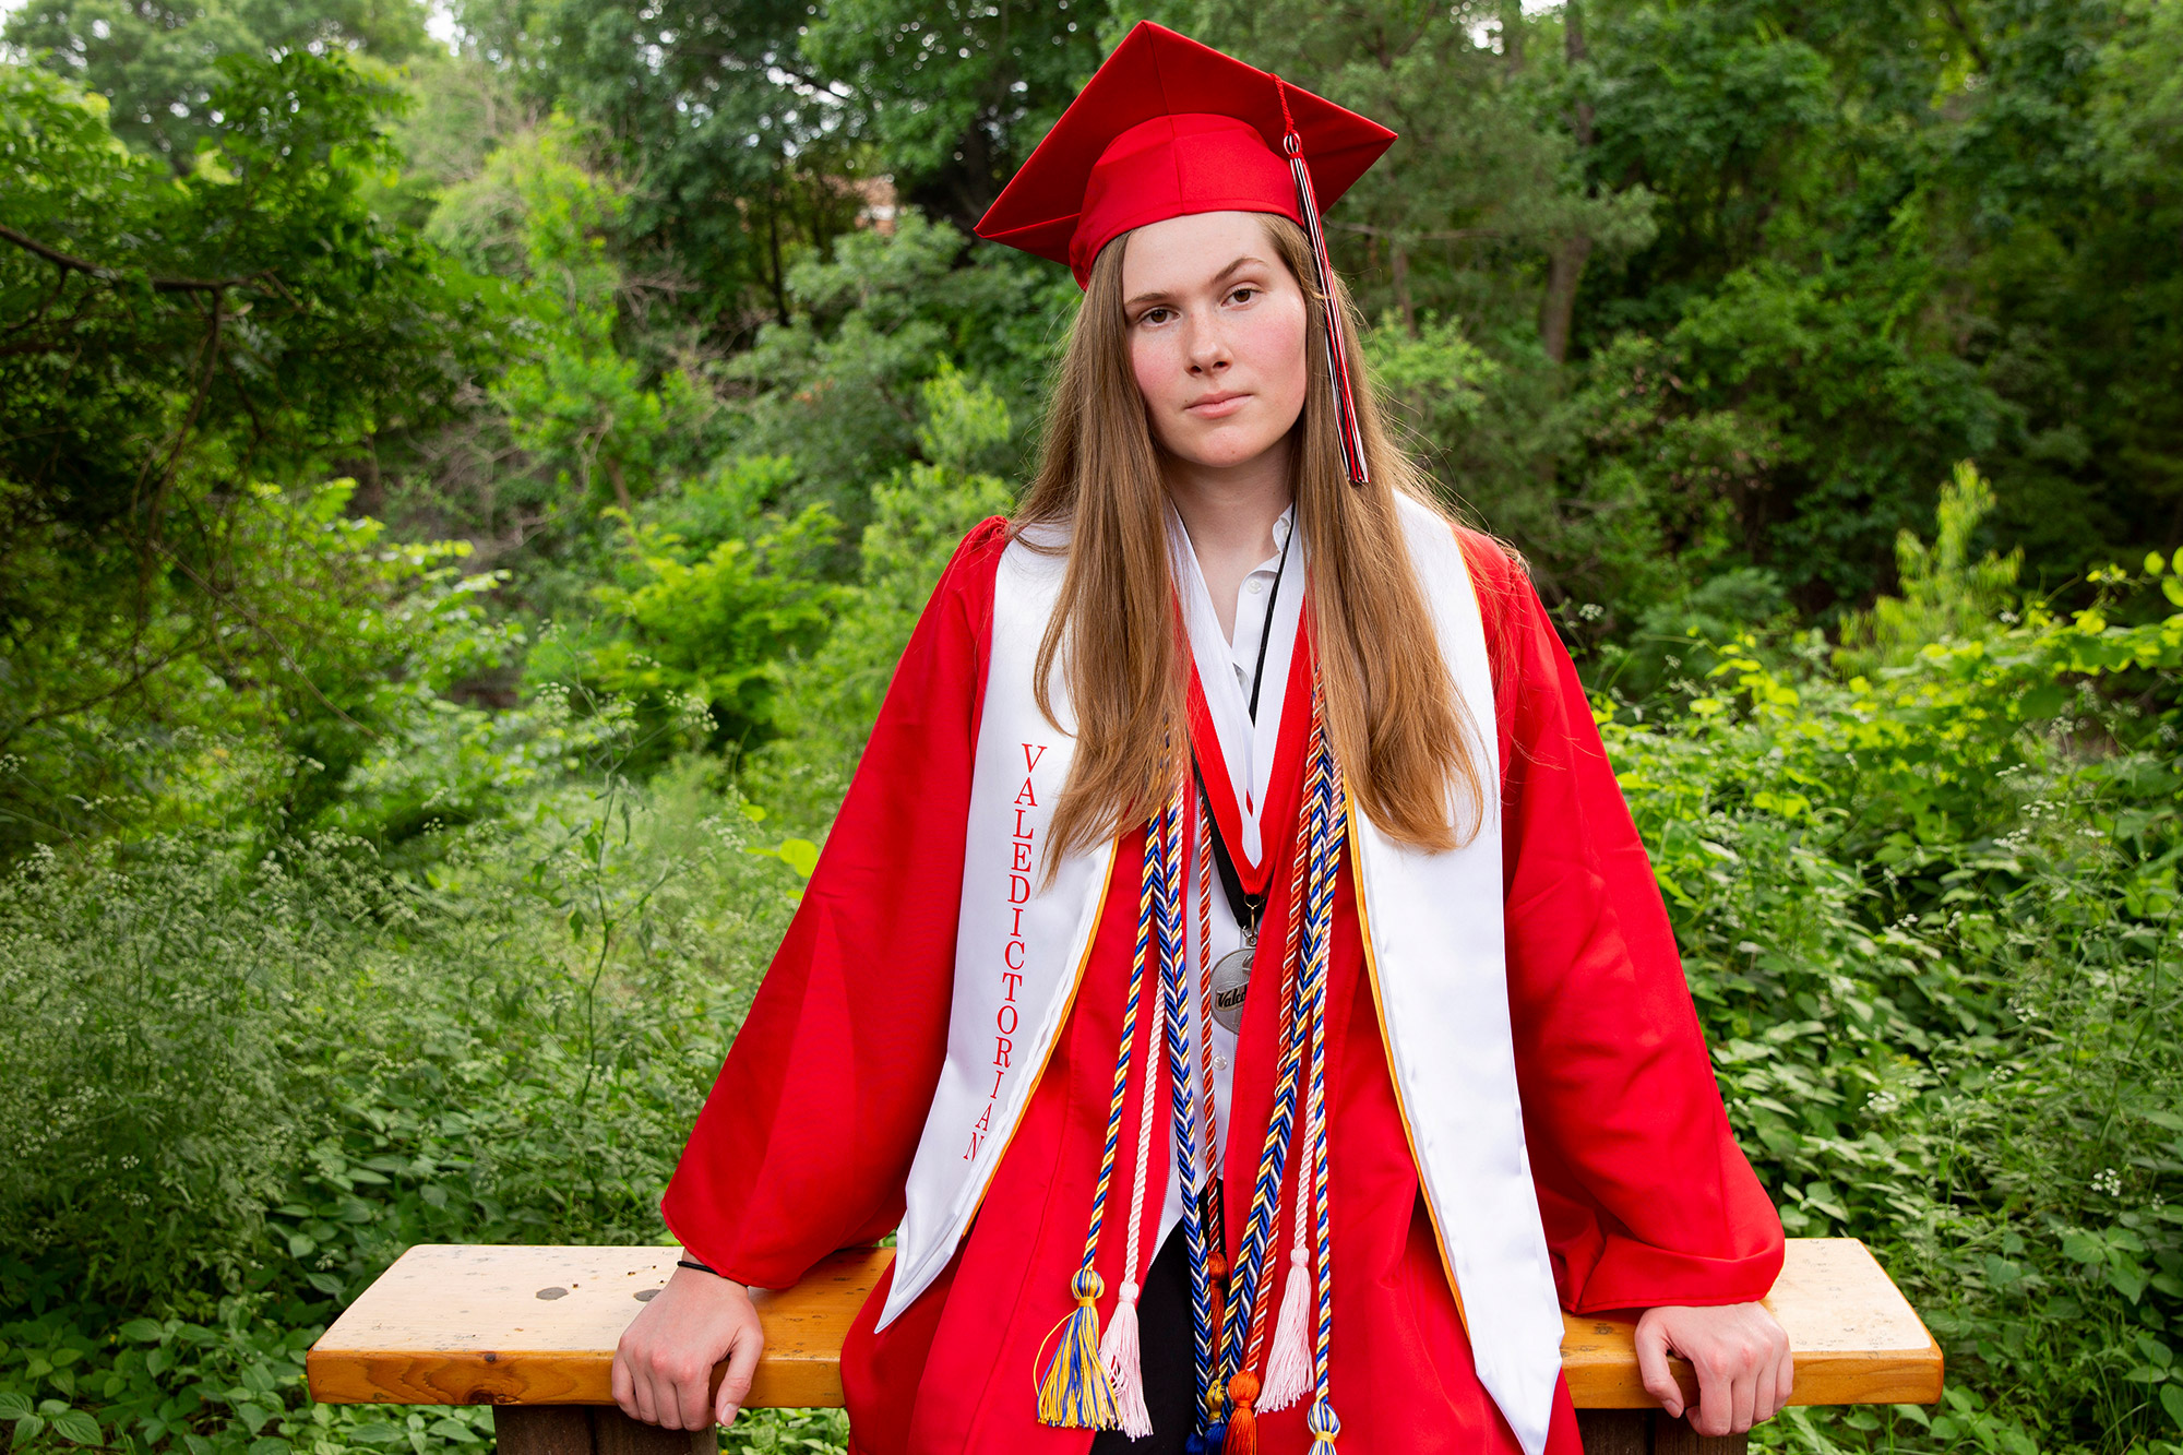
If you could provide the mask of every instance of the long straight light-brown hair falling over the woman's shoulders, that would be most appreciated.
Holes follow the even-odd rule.
[[[1401,492],[1432,505],[1432,496],[1417,463],[1382,426],[1356,343],[1362,323],[1336,277],[1371,465],[1371,485],[1349,483],[1310,242],[1286,216],[1262,214],[1262,221],[1303,288],[1310,317],[1310,389],[1290,452],[1290,487],[1312,553],[1308,614],[1327,736],[1349,791],[1382,832],[1410,848],[1447,850],[1478,830],[1478,762],[1425,594],[1410,570],[1395,500]],[[1153,815],[1174,782],[1174,754],[1188,752],[1190,642],[1174,610],[1159,450],[1129,363],[1126,247],[1122,234],[1092,264],[1054,376],[1039,472],[1011,522],[1017,537],[1033,527],[1067,535],[1061,601],[1037,664],[1037,701],[1050,721],[1057,662],[1067,673],[1078,734],[1054,806],[1050,865]]]

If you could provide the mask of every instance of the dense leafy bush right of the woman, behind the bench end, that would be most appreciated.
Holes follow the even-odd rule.
[[[1871,677],[1746,640],[1685,712],[1607,723],[1781,1221],[1866,1239],[1949,1350],[1941,1411],[1792,1411],[1786,1444],[2183,1427],[2183,612],[2115,625],[2120,575],[2067,616],[1941,610],[1995,570],[1912,572],[1965,629]]]

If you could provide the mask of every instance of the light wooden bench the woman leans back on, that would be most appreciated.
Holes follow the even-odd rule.
[[[609,1368],[679,1247],[413,1247],[308,1359],[330,1405],[498,1405],[506,1455],[709,1455],[714,1431],[661,1431],[613,1409]],[[751,1407],[838,1407],[840,1341],[893,1258],[856,1247],[792,1289],[755,1296],[766,1357]],[[1856,1239],[1792,1239],[1766,1306],[1797,1350],[1794,1405],[1930,1405],[1941,1348]],[[1731,1455],[1661,1416],[1637,1383],[1635,1324],[1565,1315],[1563,1370],[1587,1455]],[[1681,1361],[1677,1379],[1696,1394]]]

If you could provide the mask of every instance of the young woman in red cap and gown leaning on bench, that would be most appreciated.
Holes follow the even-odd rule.
[[[864,1455],[1576,1455],[1563,1309],[1644,1309],[1701,1433],[1786,1403],[1781,1226],[1583,688],[1325,262],[1391,140],[1144,24],[980,225],[1085,284],[1046,457],[699,1116],[635,1418],[733,1418],[747,1287],[895,1228]]]

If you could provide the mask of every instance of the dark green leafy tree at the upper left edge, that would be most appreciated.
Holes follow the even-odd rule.
[[[496,288],[362,205],[393,100],[345,59],[227,57],[214,144],[177,179],[114,138],[98,96],[0,68],[13,845],[98,797],[114,771],[100,721],[175,734],[207,712],[262,714],[336,778],[369,738],[384,664],[354,655],[347,568],[321,551],[345,527],[325,496],[290,492],[458,413],[504,319]],[[131,752],[131,771],[162,758]]]

